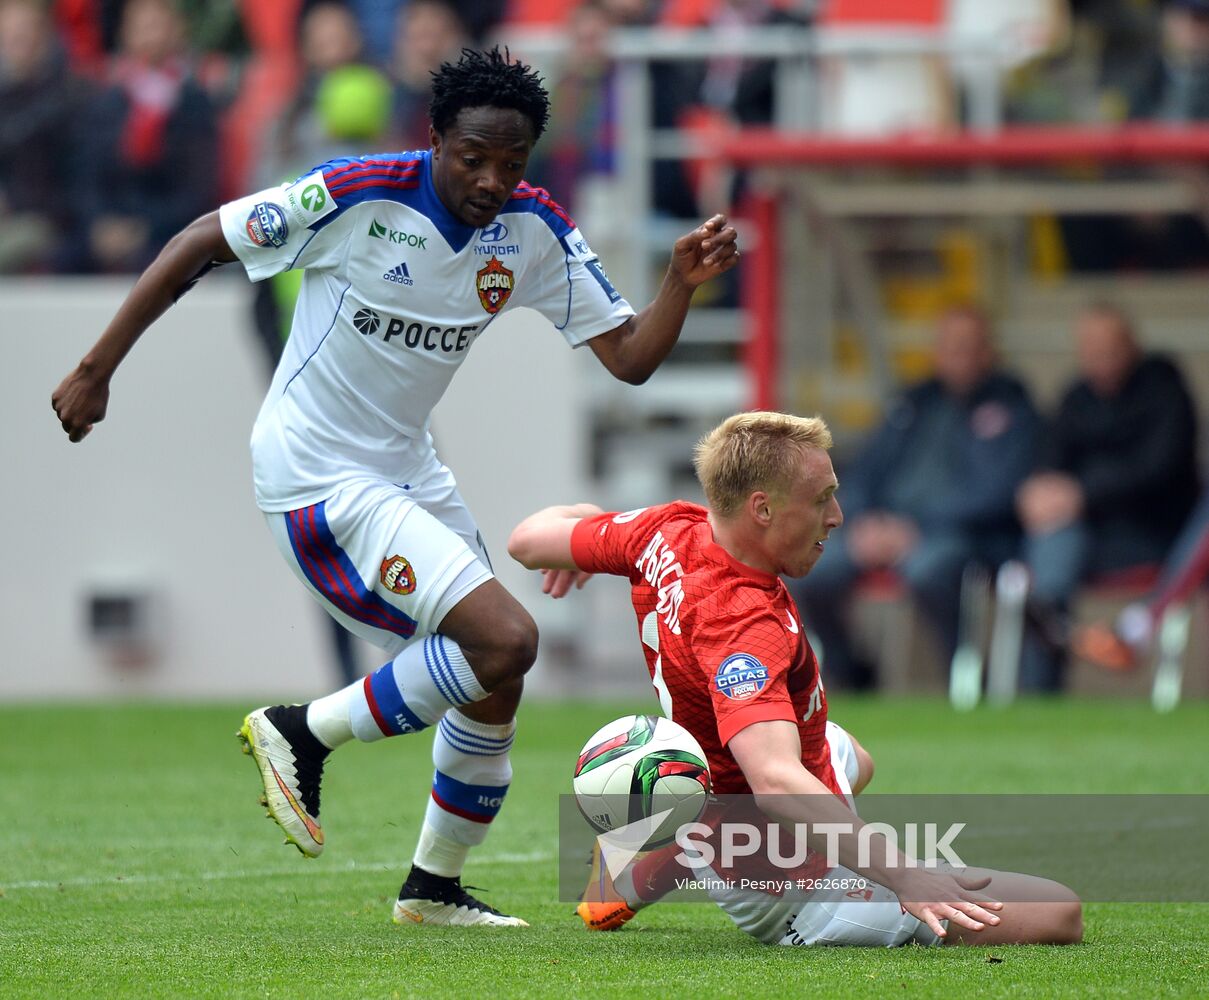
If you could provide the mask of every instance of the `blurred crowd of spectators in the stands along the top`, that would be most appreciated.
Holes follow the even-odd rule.
[[[1209,116],[1209,0],[1024,6],[1042,28],[1006,80],[1007,121]],[[530,179],[573,202],[580,178],[613,168],[614,27],[734,34],[910,24],[945,10],[951,21],[980,18],[972,0],[0,0],[0,272],[137,270],[225,198],[332,155],[426,146],[429,73],[501,31],[565,39]],[[652,69],[656,126],[773,117],[769,62]],[[960,125],[960,83],[945,104],[938,123]],[[661,212],[696,214],[692,173],[658,166]],[[1113,241],[1098,225],[1066,227],[1076,268],[1105,264]],[[1175,245],[1178,264],[1209,260],[1199,221],[1164,233],[1163,245]]]

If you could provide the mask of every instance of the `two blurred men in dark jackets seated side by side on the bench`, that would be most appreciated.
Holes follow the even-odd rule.
[[[839,467],[843,530],[791,585],[829,683],[878,681],[854,641],[850,605],[879,572],[909,590],[949,663],[966,568],[1022,561],[1031,593],[1020,684],[1031,692],[1060,690],[1072,649],[1088,655],[1070,628],[1084,585],[1152,590],[1133,612],[1143,628],[1121,628],[1092,651],[1120,669],[1150,652],[1162,607],[1204,583],[1209,493],[1199,492],[1198,421],[1184,376],[1141,347],[1133,318],[1113,304],[1086,305],[1071,337],[1078,372],[1042,414],[999,357],[987,313],[960,306],[941,316],[935,374],[904,386]]]

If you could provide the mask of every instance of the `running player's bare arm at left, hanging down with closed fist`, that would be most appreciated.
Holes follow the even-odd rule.
[[[139,276],[100,339],[51,394],[51,405],[73,441],[105,417],[109,380],[122,358],[163,312],[216,264],[236,256],[222,236],[218,212],[177,233]]]

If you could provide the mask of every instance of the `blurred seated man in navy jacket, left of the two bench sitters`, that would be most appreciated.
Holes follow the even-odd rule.
[[[1012,498],[1029,472],[1037,428],[1029,394],[997,366],[980,310],[941,317],[933,359],[935,376],[890,404],[880,429],[843,470],[848,525],[827,561],[791,583],[822,643],[828,683],[873,680],[845,622],[862,574],[892,570],[910,588],[948,663],[965,566],[996,565],[1019,542]]]

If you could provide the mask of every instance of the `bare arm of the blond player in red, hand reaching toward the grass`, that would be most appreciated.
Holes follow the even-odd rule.
[[[989,884],[989,878],[973,879],[909,868],[902,852],[887,844],[880,833],[869,837],[868,856],[872,863],[861,866],[858,842],[864,823],[803,767],[802,742],[794,723],[757,722],[736,733],[728,748],[764,815],[789,826],[808,823],[811,831],[831,823],[848,830],[837,839],[839,862],[893,891],[903,908],[937,936],[947,936],[942,920],[971,931],[1000,923],[1000,917],[993,911],[1002,909],[1003,904],[978,891]],[[826,843],[816,844],[815,839],[812,833],[808,843],[816,850],[826,848]],[[887,863],[889,857],[895,857],[895,862]]]

